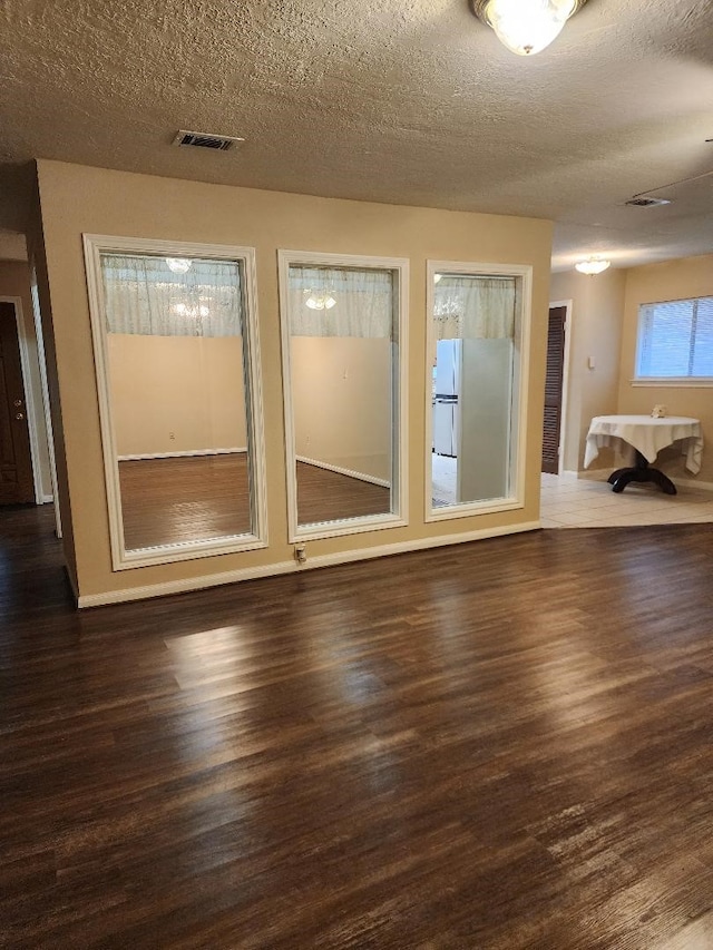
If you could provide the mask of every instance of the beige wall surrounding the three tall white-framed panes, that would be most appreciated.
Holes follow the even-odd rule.
[[[215,158],[215,156],[213,157]],[[219,156],[217,156],[219,160]],[[276,253],[314,251],[410,261],[407,527],[310,541],[307,557],[349,556],[429,538],[458,540],[539,518],[539,466],[549,294],[551,223],[432,208],[399,207],[251,190],[38,161],[42,226],[51,291],[53,344],[65,428],[75,550],[82,596],[160,585],[197,584],[205,575],[294,565],[287,542],[284,422]],[[178,564],[113,572],[94,354],[81,234],[133,235],[254,247],[267,474],[270,547]],[[507,512],[424,522],[427,259],[531,264],[525,506]],[[428,373],[430,380],[430,368]],[[430,404],[430,401],[429,401]]]

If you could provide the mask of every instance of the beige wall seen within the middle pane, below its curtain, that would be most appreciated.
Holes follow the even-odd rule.
[[[389,340],[292,337],[297,456],[390,481],[390,362]]]

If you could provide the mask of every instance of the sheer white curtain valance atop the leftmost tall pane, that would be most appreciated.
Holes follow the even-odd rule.
[[[108,332],[240,336],[238,265],[202,258],[176,272],[166,257],[101,254]]]

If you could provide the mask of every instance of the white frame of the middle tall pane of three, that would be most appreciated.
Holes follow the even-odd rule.
[[[292,265],[324,267],[367,267],[391,271],[395,280],[395,312],[398,340],[398,379],[392,380],[392,401],[398,401],[393,415],[395,427],[391,431],[391,511],[382,515],[364,515],[310,525],[297,523],[297,480],[295,470],[296,449],[294,413],[292,410],[292,372],[290,360],[289,273]],[[277,251],[280,273],[280,324],[282,332],[282,380],[285,420],[285,460],[287,471],[287,526],[289,542],[315,538],[336,538],[361,531],[382,528],[399,528],[408,525],[408,292],[409,261],[403,257],[363,257],[355,254],[322,254],[311,251]],[[392,343],[393,345],[393,343]],[[393,473],[395,472],[395,478]]]

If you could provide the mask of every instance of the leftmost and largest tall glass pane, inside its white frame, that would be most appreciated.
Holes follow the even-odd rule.
[[[100,262],[125,549],[250,535],[242,265]]]

